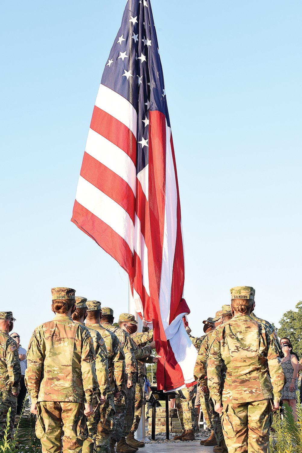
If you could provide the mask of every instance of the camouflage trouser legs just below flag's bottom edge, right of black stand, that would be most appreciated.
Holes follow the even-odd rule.
[[[182,429],[196,429],[196,415],[194,407],[196,388],[197,386],[195,386],[193,390],[189,390],[186,387],[177,391],[175,403]]]

